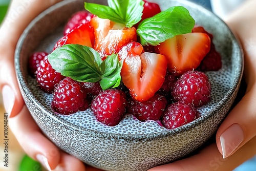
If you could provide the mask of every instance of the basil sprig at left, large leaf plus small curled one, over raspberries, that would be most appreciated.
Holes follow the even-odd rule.
[[[117,54],[102,61],[93,48],[71,44],[53,51],[48,60],[61,75],[82,82],[99,81],[103,90],[116,88],[121,81],[122,61],[119,61]]]

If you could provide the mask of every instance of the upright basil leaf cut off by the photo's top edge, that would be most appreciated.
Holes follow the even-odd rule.
[[[143,11],[143,1],[138,0],[108,0],[109,6],[123,18],[127,28],[139,23]]]

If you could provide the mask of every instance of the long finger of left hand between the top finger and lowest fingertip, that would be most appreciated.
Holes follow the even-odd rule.
[[[44,135],[24,105],[20,113],[9,119],[10,129],[24,151],[47,169],[55,168],[60,161],[59,149]]]

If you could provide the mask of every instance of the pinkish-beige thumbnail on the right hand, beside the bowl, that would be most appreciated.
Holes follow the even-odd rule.
[[[220,136],[223,159],[229,157],[244,140],[244,131],[239,124],[232,124]]]

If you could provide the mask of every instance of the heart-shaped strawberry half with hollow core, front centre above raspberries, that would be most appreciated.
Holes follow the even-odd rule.
[[[146,101],[154,96],[163,84],[167,69],[165,56],[142,52],[143,47],[138,42],[130,42],[118,52],[119,58],[124,59],[122,81],[137,101]]]

